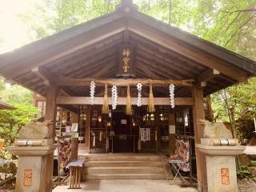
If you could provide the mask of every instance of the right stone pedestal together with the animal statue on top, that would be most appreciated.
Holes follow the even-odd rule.
[[[205,126],[204,135],[196,147],[206,154],[208,191],[238,192],[235,158],[246,146],[240,146],[222,122],[201,121],[201,124]]]

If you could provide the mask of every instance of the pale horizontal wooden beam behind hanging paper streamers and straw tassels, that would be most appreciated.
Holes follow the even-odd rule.
[[[95,105],[103,104],[103,97],[95,97]],[[138,98],[130,98],[132,105],[137,105]],[[127,98],[118,98],[118,105],[126,105]],[[57,97],[58,105],[90,105],[90,97]],[[109,105],[112,105],[112,98],[108,98]],[[142,98],[142,105],[148,104],[148,98]],[[154,98],[154,105],[156,106],[168,106],[170,105],[170,98]],[[192,98],[175,98],[176,106],[192,106],[194,105]]]

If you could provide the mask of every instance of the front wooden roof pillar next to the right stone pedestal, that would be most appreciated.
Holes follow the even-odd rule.
[[[193,121],[194,121],[194,142],[198,144],[201,142],[203,135],[203,127],[199,124],[200,119],[205,119],[205,111],[203,107],[203,90],[202,88],[193,87],[192,97],[194,98],[193,106]],[[207,176],[206,176],[206,155],[195,149],[197,174],[198,174],[198,190],[207,190]]]

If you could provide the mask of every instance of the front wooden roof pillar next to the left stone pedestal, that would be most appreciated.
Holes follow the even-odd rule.
[[[55,125],[56,125],[56,97],[58,94],[58,86],[48,85],[46,87],[46,117],[45,120],[50,120],[53,122],[52,126],[49,126],[50,135],[53,138],[53,143],[55,142]],[[48,178],[46,181],[46,186],[52,189],[52,178],[54,171],[54,153],[47,155],[46,166],[49,167],[46,171]],[[51,191],[51,190],[50,190]]]

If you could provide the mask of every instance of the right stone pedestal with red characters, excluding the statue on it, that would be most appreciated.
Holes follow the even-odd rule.
[[[210,146],[202,141],[196,147],[206,154],[208,192],[238,192],[235,157],[245,146]]]

